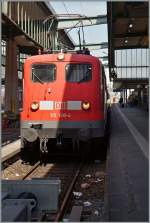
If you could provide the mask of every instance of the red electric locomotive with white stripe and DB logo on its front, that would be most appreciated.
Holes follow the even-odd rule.
[[[51,141],[79,145],[104,137],[107,97],[104,68],[94,56],[57,52],[27,58],[21,113],[23,156],[48,153]]]

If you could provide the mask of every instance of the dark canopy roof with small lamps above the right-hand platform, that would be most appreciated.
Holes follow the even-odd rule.
[[[148,1],[108,2],[107,16],[109,73],[112,78],[115,50],[148,48]]]

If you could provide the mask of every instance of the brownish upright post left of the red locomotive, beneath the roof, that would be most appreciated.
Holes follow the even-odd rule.
[[[19,113],[17,46],[13,39],[6,44],[5,111]]]

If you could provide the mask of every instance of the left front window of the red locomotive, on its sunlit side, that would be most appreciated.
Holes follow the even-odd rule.
[[[34,64],[32,65],[33,82],[53,82],[56,80],[56,65],[54,64]]]

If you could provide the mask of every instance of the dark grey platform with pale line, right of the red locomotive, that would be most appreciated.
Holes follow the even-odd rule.
[[[107,160],[108,221],[148,221],[148,112],[114,104]]]

